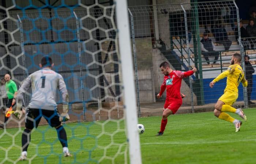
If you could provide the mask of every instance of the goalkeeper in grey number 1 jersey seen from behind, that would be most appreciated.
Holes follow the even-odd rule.
[[[14,116],[22,117],[23,93],[32,88],[32,96],[27,109],[25,129],[22,133],[22,153],[20,160],[26,160],[27,148],[30,142],[31,130],[37,128],[43,116],[48,124],[56,128],[58,138],[63,147],[64,156],[71,156],[68,151],[67,134],[61,121],[69,120],[68,116],[68,92],[63,77],[52,70],[54,64],[49,56],[41,59],[39,66],[41,70],[35,71],[25,79],[18,90],[16,97],[17,108]],[[59,115],[56,104],[56,91],[60,90],[63,100],[63,113]]]

